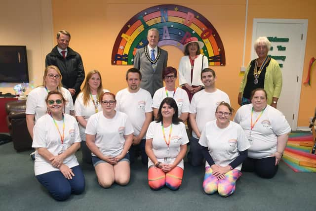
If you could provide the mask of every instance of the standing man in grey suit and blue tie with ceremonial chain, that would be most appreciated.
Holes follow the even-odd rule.
[[[153,96],[158,88],[163,87],[162,70],[167,67],[168,52],[157,46],[159,32],[153,28],[148,30],[148,45],[137,49],[134,56],[134,68],[142,73],[140,86]]]

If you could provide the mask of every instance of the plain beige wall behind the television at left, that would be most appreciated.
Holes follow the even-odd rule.
[[[31,84],[41,84],[45,56],[54,44],[51,0],[2,0],[0,27],[0,45],[26,45]],[[0,91],[14,93],[16,84],[0,83]]]

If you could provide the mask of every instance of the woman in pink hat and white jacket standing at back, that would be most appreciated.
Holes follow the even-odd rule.
[[[204,43],[196,37],[188,38],[184,44],[184,55],[179,63],[179,85],[188,93],[189,100],[201,90],[203,84],[200,80],[201,71],[208,67],[208,59],[200,54]]]

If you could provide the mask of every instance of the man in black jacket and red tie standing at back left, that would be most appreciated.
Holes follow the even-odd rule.
[[[57,45],[47,54],[46,67],[55,65],[59,68],[63,77],[62,84],[67,88],[75,103],[80,92],[80,86],[84,80],[84,69],[79,53],[68,47],[70,33],[61,30],[57,33]]]

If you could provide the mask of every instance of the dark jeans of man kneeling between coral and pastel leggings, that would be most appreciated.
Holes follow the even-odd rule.
[[[201,148],[198,143],[198,139],[195,137],[191,137],[189,140],[190,140],[190,150],[188,152],[188,161],[194,167],[201,166],[203,163],[204,157],[202,155]]]

